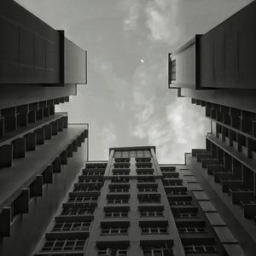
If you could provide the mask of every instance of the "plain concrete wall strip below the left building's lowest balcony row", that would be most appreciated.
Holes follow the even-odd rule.
[[[29,213],[20,214],[15,218],[11,224],[11,236],[0,239],[0,255],[32,255],[75,177],[84,166],[87,155],[86,141],[87,139],[78,152],[73,152],[73,158],[68,158],[67,166],[61,166],[61,173],[54,174],[54,182],[44,184],[43,196],[31,199]]]

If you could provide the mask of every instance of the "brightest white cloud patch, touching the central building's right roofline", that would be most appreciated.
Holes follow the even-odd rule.
[[[156,146],[160,162],[183,163],[185,152],[205,147],[204,135],[209,131],[210,122],[204,118],[203,108],[191,105],[189,98],[176,98],[160,109],[151,112],[148,119],[138,121],[132,131],[133,136]],[[145,106],[141,112],[150,112],[150,107]]]

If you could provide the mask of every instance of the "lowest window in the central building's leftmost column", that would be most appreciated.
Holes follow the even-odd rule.
[[[69,240],[58,239],[46,241],[42,251],[56,252],[56,251],[83,251],[85,240]]]

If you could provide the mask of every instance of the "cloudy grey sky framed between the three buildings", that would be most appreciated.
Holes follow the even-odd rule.
[[[57,110],[90,124],[90,160],[154,145],[160,163],[204,148],[205,110],[168,90],[167,55],[252,0],[16,0],[88,51],[88,84]]]

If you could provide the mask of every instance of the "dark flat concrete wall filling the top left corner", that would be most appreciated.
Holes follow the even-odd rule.
[[[0,83],[60,83],[60,33],[15,1],[0,8]]]

